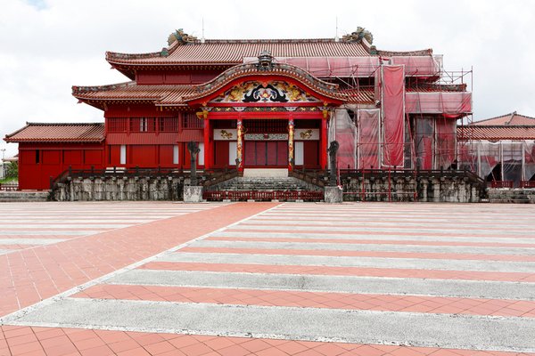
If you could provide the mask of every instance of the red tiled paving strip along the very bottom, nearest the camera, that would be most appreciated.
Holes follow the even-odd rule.
[[[190,336],[80,328],[0,328],[0,356],[512,356],[517,352],[477,352],[391,345],[321,343]]]

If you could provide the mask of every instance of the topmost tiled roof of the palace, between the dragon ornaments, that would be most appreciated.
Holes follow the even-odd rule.
[[[336,42],[325,39],[273,39],[273,40],[206,40],[169,47],[169,55],[161,53],[106,53],[111,64],[129,65],[188,65],[238,64],[243,57],[256,57],[269,51],[274,57],[361,57],[369,50],[360,42]]]

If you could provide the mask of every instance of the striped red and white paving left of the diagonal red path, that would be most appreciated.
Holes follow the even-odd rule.
[[[211,209],[218,204],[72,202],[0,204],[0,255]]]

